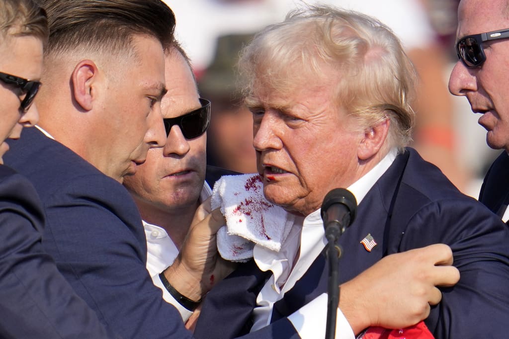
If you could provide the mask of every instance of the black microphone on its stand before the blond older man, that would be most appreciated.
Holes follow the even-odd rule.
[[[337,245],[337,241],[347,227],[352,224],[356,211],[357,200],[352,192],[345,188],[334,188],[323,199],[322,220],[328,242],[326,254],[329,262],[326,339],[335,338],[337,306],[340,302],[338,260],[341,257],[342,249]]]

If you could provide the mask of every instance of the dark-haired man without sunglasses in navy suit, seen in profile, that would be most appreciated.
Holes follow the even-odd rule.
[[[41,119],[10,143],[6,163],[41,196],[43,247],[76,293],[122,337],[189,337],[182,317],[190,312],[182,300],[208,292],[209,280],[202,283],[207,274],[223,276],[207,260],[215,252],[199,252],[203,246],[191,241],[161,272],[163,298],[179,314],[147,274],[141,220],[120,184],[149,148],[165,142],[160,100],[173,12],[159,0],[39,3],[50,30],[37,98]],[[212,213],[193,230],[208,244],[221,224],[220,213]]]

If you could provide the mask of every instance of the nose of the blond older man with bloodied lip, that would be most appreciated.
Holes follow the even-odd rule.
[[[281,133],[284,133],[284,124],[274,112],[266,111],[263,117],[253,116],[253,147],[257,151],[281,149]]]

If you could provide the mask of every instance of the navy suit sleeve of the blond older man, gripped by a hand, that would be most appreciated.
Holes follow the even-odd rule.
[[[460,281],[442,288],[426,323],[437,338],[506,336],[509,316],[509,229],[484,206],[444,200],[410,220],[401,250],[442,242],[453,249]]]

